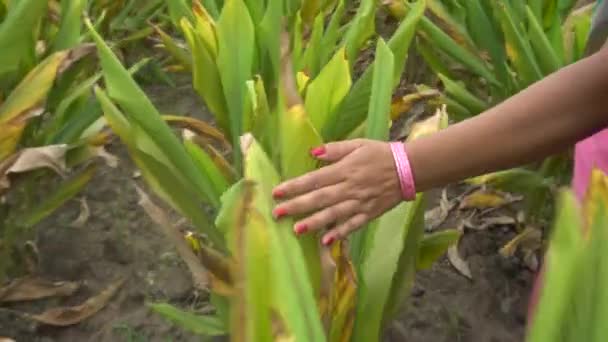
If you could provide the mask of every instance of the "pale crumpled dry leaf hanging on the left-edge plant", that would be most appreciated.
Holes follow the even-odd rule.
[[[65,176],[65,154],[68,145],[49,145],[43,147],[25,148],[14,157],[9,157],[0,163],[0,193],[11,185],[8,176],[13,173],[23,173],[41,168],[49,168],[60,176]]]

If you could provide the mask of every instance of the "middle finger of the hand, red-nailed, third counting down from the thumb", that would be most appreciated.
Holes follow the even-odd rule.
[[[292,198],[279,204],[274,209],[273,215],[275,218],[304,215],[333,206],[347,199],[344,187],[343,183],[334,184]]]

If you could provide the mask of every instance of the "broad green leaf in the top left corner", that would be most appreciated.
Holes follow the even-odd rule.
[[[0,76],[35,64],[34,30],[46,13],[47,1],[19,0],[0,23]],[[8,53],[10,51],[10,53]]]

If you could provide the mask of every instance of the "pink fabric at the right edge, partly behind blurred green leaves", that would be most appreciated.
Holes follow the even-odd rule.
[[[608,173],[608,129],[604,129],[591,137],[576,144],[574,150],[574,175],[572,188],[579,201],[585,198],[591,170],[599,168]],[[528,306],[528,319],[534,314],[534,308],[538,303],[543,284],[544,267],[540,270]]]

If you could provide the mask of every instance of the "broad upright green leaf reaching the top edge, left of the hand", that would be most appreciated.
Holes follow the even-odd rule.
[[[239,146],[243,134],[243,117],[247,80],[251,79],[255,35],[253,23],[243,0],[226,0],[217,23],[217,66],[222,80],[229,113],[232,146]],[[241,169],[241,154],[233,154],[235,168]],[[239,171],[240,172],[240,171]]]

